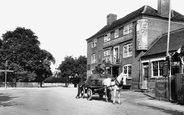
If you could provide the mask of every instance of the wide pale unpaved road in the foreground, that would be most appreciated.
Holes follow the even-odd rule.
[[[76,99],[73,86],[0,89],[0,115],[182,115],[138,103],[148,97],[123,91],[122,104],[112,104],[94,96],[91,101]]]

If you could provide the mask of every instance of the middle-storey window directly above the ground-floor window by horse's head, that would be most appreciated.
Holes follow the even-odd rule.
[[[132,56],[132,44],[123,46],[123,58]]]

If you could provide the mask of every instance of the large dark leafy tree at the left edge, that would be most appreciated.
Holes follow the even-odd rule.
[[[50,62],[55,63],[51,53],[40,49],[40,42],[30,29],[17,27],[2,35],[0,47],[1,68],[8,61],[8,69],[16,71],[18,80],[43,80],[51,74]]]

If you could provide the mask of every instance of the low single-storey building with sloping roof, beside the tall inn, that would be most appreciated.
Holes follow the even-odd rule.
[[[171,76],[184,72],[183,57],[178,56],[184,45],[184,28],[170,33],[169,54],[171,56]],[[141,57],[142,71],[140,81],[147,82],[147,88],[154,91],[155,82],[158,78],[165,78],[164,63],[166,61],[167,33],[162,34],[155,40],[150,49]]]

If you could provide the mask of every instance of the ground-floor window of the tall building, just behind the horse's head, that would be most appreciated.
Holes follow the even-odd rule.
[[[126,78],[132,78],[132,65],[127,64],[123,66],[123,74],[126,76]]]

